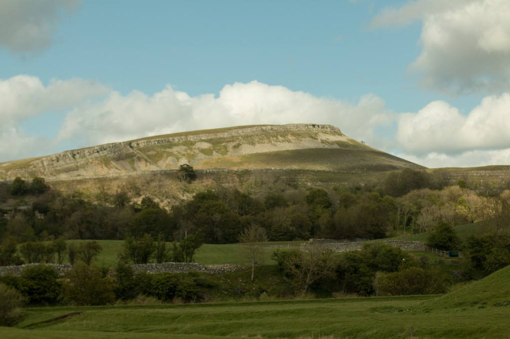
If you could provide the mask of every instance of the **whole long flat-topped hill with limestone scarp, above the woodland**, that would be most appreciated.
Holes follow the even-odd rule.
[[[151,136],[0,164],[0,179],[83,179],[176,171],[380,172],[423,168],[319,124],[252,125]]]

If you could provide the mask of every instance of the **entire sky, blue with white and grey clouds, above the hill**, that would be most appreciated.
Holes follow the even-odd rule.
[[[0,161],[324,123],[428,167],[510,164],[504,0],[0,0]]]

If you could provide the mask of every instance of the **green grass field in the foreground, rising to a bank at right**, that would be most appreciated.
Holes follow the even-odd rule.
[[[0,331],[3,338],[408,338],[413,326],[415,338],[506,338],[509,278],[507,267],[446,296],[34,307]]]

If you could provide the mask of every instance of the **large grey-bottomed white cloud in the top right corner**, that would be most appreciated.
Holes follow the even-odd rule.
[[[371,25],[422,20],[422,51],[410,65],[422,84],[448,94],[487,93],[510,85],[508,13],[506,0],[418,0],[384,10]]]

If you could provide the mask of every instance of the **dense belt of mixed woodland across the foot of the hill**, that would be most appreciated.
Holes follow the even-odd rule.
[[[189,168],[183,167],[182,172],[193,178]],[[17,192],[29,194],[28,184],[18,179],[10,185],[0,184],[0,202]],[[180,241],[201,229],[205,243],[233,243],[250,224],[260,225],[270,241],[377,239],[398,230],[428,232],[439,222],[455,226],[488,219],[495,230],[506,227],[509,190],[483,196],[462,180],[447,187],[431,182],[427,173],[407,169],[390,174],[372,192],[290,185],[248,195],[218,186],[166,209],[153,197],[135,199],[124,190],[113,195],[109,206],[98,206],[63,196],[48,188],[43,179],[34,178],[30,187],[44,189],[32,190],[30,204],[0,211],[4,215],[0,217],[0,241],[14,237],[23,243],[62,236],[122,240],[127,234]]]

